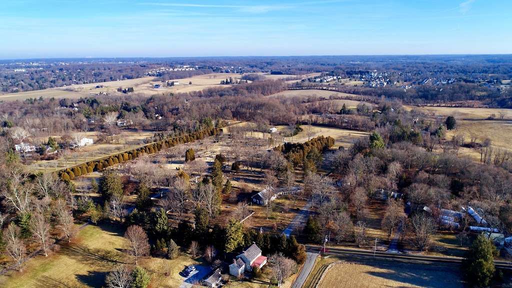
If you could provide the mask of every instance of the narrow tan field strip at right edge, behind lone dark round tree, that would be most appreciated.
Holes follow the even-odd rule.
[[[406,110],[416,109],[425,113],[440,115],[440,116],[454,116],[457,120],[482,120],[487,119],[489,115],[495,114],[496,119],[499,119],[500,112],[504,113],[504,119],[512,120],[512,109],[498,109],[498,108],[464,108],[464,107],[432,107],[432,106],[411,106],[404,105]]]

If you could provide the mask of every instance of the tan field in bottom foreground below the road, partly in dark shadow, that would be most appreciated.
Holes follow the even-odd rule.
[[[456,268],[397,262],[340,262],[327,270],[318,288],[463,287]]]

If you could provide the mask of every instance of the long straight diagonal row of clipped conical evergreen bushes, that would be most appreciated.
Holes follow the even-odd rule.
[[[101,159],[92,160],[86,163],[81,163],[77,166],[62,169],[58,171],[59,177],[63,180],[73,179],[74,177],[78,177],[81,175],[85,175],[88,173],[92,173],[93,171],[102,171],[107,167],[114,166],[115,164],[124,163],[126,161],[130,161],[137,157],[141,157],[147,154],[153,154],[159,152],[161,150],[174,147],[176,145],[180,145],[183,143],[193,142],[198,139],[203,139],[204,137],[217,135],[221,129],[219,128],[211,128],[196,131],[189,134],[184,134],[180,136],[175,136],[172,138],[168,138],[165,140],[160,140],[158,142],[153,142],[147,144],[143,147],[139,147],[134,150],[121,152],[118,154],[110,155],[107,157],[103,157]]]

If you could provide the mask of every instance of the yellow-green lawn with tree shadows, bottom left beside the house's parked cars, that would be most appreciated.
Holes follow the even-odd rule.
[[[9,287],[101,287],[106,274],[116,265],[133,263],[121,250],[124,233],[120,225],[88,225],[73,242],[64,243],[46,258],[26,262],[22,272],[0,276],[0,286]],[[177,259],[146,258],[139,261],[152,276],[153,287],[178,287],[178,273],[198,261],[187,255]]]

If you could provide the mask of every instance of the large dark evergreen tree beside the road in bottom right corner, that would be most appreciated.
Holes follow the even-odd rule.
[[[462,261],[462,269],[467,282],[476,287],[487,287],[495,273],[494,255],[496,247],[493,241],[483,234],[471,244]]]

